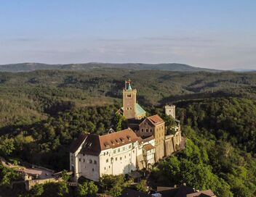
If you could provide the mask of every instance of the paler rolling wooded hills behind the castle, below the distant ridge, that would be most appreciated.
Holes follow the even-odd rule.
[[[89,72],[0,72],[0,126],[41,119],[63,102],[76,106],[121,102],[121,90],[127,78],[140,91],[138,99],[144,106],[221,96],[256,98],[256,74],[253,72],[135,72],[123,69],[113,72],[111,68]]]

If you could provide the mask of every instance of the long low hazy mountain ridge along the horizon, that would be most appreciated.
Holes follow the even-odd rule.
[[[201,67],[191,67],[187,64],[108,64],[108,63],[86,63],[86,64],[41,64],[41,63],[20,63],[0,65],[0,72],[30,72],[33,70],[92,70],[95,68],[127,68],[131,70],[168,70],[180,72],[221,72]]]

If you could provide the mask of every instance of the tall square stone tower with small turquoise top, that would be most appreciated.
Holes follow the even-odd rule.
[[[132,89],[131,80],[126,80],[123,89],[123,111],[126,119],[136,119],[136,94],[137,90]]]

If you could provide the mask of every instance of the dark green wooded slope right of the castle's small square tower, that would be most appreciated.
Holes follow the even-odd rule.
[[[183,103],[183,124],[205,130],[241,150],[256,153],[256,102],[215,98]]]

